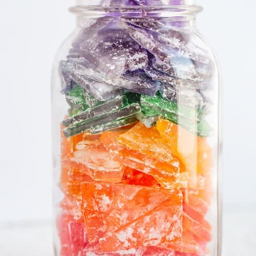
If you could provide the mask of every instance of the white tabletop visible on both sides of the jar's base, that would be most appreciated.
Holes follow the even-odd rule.
[[[251,208],[224,215],[222,256],[256,255],[255,216],[256,210]],[[1,256],[53,256],[50,222],[12,225],[0,230]]]

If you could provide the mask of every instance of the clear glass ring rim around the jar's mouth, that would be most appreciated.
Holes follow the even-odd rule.
[[[69,8],[69,11],[74,14],[83,14],[83,15],[96,15],[97,13],[108,14],[110,12],[138,12],[145,11],[147,13],[154,12],[165,12],[168,17],[172,16],[189,16],[195,15],[203,10],[201,6],[198,5],[164,5],[164,6],[127,6],[127,5],[118,5],[118,6],[100,6],[100,5],[76,5]],[[164,15],[166,16],[166,15]]]

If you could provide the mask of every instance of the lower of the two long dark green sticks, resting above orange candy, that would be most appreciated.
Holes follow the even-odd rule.
[[[134,116],[141,111],[140,105],[138,103],[132,103],[125,105],[120,109],[111,112],[101,113],[101,115],[94,116],[87,120],[73,123],[63,132],[66,137],[71,137],[86,131],[90,131],[93,127],[98,127],[99,125],[105,125],[110,122],[114,122],[126,117]]]

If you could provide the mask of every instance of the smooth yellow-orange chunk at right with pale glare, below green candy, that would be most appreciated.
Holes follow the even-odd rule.
[[[208,145],[206,139],[163,119],[158,120],[157,130],[169,143],[173,154],[184,163],[192,176],[197,173],[206,174],[210,172],[212,168],[212,148]]]

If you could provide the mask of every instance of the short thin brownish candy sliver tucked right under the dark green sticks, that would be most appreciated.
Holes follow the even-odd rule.
[[[113,129],[117,129],[117,128],[129,125],[129,124],[136,123],[136,122],[138,122],[138,120],[136,118],[136,115],[131,116],[131,117],[126,117],[126,118],[123,118],[123,119],[118,119],[118,120],[113,121],[113,122],[96,125],[96,126],[94,126],[90,129],[90,132],[92,134],[98,134],[98,133],[102,133],[102,132],[105,132],[105,131],[110,131],[110,130],[113,130]]]

